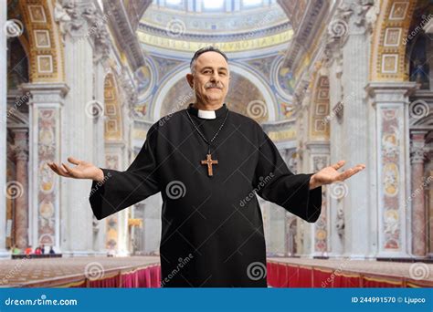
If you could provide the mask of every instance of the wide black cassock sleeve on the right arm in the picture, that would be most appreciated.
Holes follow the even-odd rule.
[[[260,128],[259,161],[253,186],[261,198],[314,223],[321,214],[322,186],[310,190],[313,174],[290,172],[275,144]]]

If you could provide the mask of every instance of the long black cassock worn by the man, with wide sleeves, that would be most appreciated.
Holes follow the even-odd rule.
[[[162,286],[266,287],[266,249],[256,194],[310,223],[321,213],[322,187],[310,190],[310,174],[293,174],[260,125],[229,111],[212,146],[208,176],[207,144],[186,111],[211,140],[226,117],[197,116],[189,105],[154,123],[125,172],[102,169],[93,181],[90,204],[102,219],[143,201],[163,196],[160,245]],[[145,226],[145,225],[144,225]]]

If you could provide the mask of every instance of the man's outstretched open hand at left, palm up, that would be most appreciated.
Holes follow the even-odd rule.
[[[102,172],[100,168],[96,167],[92,163],[87,161],[79,161],[73,157],[68,157],[68,161],[75,164],[76,166],[71,168],[63,162],[61,165],[58,165],[55,162],[48,162],[48,166],[53,172],[56,172],[58,175],[63,177],[74,179],[91,179],[98,182],[103,181],[104,172]]]

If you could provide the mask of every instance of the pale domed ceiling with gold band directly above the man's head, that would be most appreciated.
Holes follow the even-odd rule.
[[[230,53],[287,44],[292,29],[275,0],[157,0],[144,12],[137,36],[145,50],[214,45]]]

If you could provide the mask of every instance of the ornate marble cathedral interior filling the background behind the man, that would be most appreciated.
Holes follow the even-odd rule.
[[[227,108],[259,122],[291,172],[366,164],[322,187],[314,224],[259,199],[269,278],[279,263],[344,259],[353,274],[397,270],[376,281],[433,285],[433,1],[7,0],[0,11],[0,266],[43,244],[65,264],[157,267],[160,194],[99,221],[91,182],[47,162],[128,168],[153,123],[194,100],[189,62],[214,46],[228,57]]]

